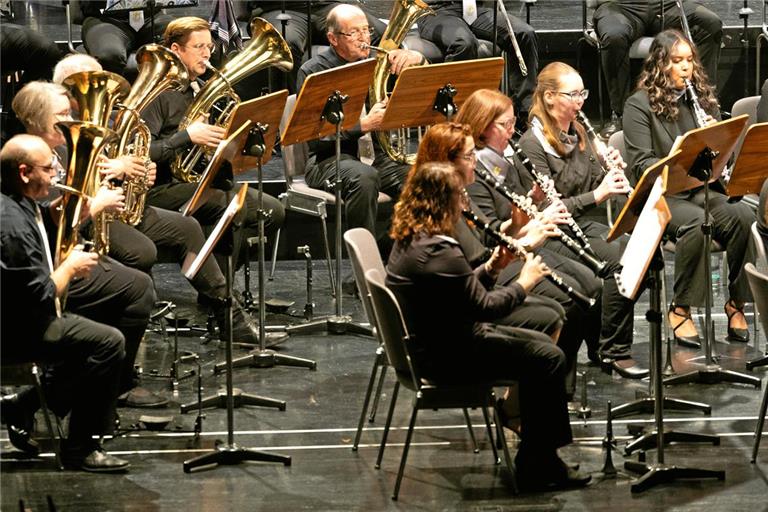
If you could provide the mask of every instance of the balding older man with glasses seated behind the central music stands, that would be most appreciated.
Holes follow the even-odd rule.
[[[326,36],[331,47],[305,62],[299,69],[296,89],[307,76],[343,66],[369,57],[373,29],[365,13],[356,6],[341,4],[328,14]],[[412,50],[392,50],[387,55],[390,72],[399,74],[409,66],[424,64],[424,56]],[[372,165],[358,159],[358,142],[369,132],[381,125],[386,102],[371,105],[368,112],[360,117],[360,123],[342,132],[341,137],[341,195],[346,210],[347,227],[363,227],[376,234],[377,198],[379,192],[395,198],[400,193],[405,175],[410,168],[407,164],[390,159],[374,143]],[[336,177],[335,144],[328,137],[309,143],[306,181],[315,188],[326,188]]]

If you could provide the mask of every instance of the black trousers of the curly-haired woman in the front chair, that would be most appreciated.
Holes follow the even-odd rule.
[[[461,357],[439,359],[443,381],[517,380],[523,436],[520,449],[550,454],[570,443],[565,355],[548,336],[496,324],[477,324]]]

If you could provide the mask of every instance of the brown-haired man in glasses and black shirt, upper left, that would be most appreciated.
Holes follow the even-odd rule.
[[[213,42],[208,22],[195,17],[178,18],[168,25],[165,45],[184,62],[192,84],[182,92],[166,91],[153,101],[142,113],[152,132],[150,158],[157,163],[157,183],[150,189],[147,202],[167,210],[179,210],[192,197],[197,183],[185,183],[175,179],[171,164],[177,154],[195,145],[215,149],[221,142],[224,128],[197,119],[184,130],[179,124],[189,105],[194,101],[195,90],[202,85],[197,79],[206,71]],[[194,213],[204,229],[215,226],[227,206],[226,194],[212,190],[211,197]],[[257,200],[255,191],[248,192],[246,206],[240,213],[244,233],[237,229],[234,236],[234,255],[241,255],[243,236],[258,236]],[[283,224],[285,210],[276,198],[264,194],[264,210],[270,212],[267,219],[267,238]],[[237,221],[236,222],[240,222]],[[222,252],[223,254],[223,252]],[[224,268],[222,254],[217,251],[219,266]]]

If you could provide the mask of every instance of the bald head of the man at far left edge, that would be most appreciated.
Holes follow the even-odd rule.
[[[2,192],[21,193],[33,199],[45,197],[50,179],[35,177],[33,172],[38,166],[50,166],[52,158],[51,148],[37,135],[21,134],[12,137],[0,150]]]

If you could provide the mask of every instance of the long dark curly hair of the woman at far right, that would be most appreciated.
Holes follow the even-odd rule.
[[[637,80],[637,88],[647,91],[651,112],[668,121],[677,119],[679,114],[677,102],[680,95],[670,79],[670,69],[672,51],[681,43],[690,46],[693,54],[691,83],[696,89],[699,103],[707,113],[715,115],[720,109],[720,104],[715,97],[714,88],[709,84],[707,73],[701,65],[696,46],[677,30],[664,30],[653,39],[648,57],[643,63],[643,70]]]

